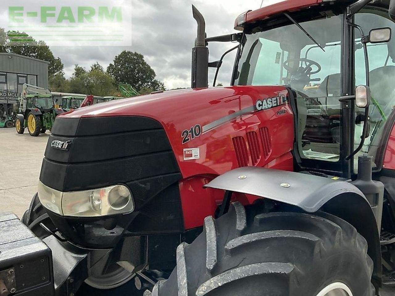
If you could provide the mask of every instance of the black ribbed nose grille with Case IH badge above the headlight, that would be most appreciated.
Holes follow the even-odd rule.
[[[68,150],[53,147],[53,141],[69,142]],[[80,191],[173,174],[180,174],[177,161],[156,120],[58,118],[47,143],[40,181],[59,191]]]

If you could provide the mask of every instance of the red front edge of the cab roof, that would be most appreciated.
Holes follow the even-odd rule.
[[[250,11],[247,13],[246,20],[247,22],[259,21],[277,13],[301,10],[309,6],[316,6],[321,2],[322,0],[286,0],[276,4],[263,6],[262,8],[254,11]]]

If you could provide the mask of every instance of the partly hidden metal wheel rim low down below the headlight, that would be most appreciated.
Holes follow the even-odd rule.
[[[85,283],[96,289],[107,290],[122,286],[133,278],[134,274],[118,264],[112,264],[106,274],[91,276],[85,280]]]

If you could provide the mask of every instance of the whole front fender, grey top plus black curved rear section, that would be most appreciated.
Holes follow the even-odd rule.
[[[275,169],[243,167],[218,176],[205,187],[246,193],[290,204],[307,213],[318,210],[335,215],[355,227],[368,243],[374,262],[372,281],[382,285],[380,235],[365,195],[348,182]]]

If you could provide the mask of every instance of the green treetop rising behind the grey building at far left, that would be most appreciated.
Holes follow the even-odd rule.
[[[0,52],[12,52],[47,61],[49,62],[49,76],[63,73],[62,61],[60,58],[55,58],[48,45],[44,41],[36,41],[25,32],[8,31],[5,33],[4,29],[0,28]]]

